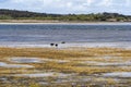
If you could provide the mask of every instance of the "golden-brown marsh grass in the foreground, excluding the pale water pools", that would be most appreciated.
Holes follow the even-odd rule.
[[[0,62],[5,63],[13,63],[9,61],[10,58],[13,57],[26,57],[26,58],[39,58],[39,59],[51,59],[52,61],[46,61],[41,63],[23,63],[33,65],[32,69],[7,69],[0,67],[0,78],[5,77],[8,78],[7,82],[0,79],[0,86],[4,87],[71,87],[73,80],[55,84],[59,78],[55,77],[41,77],[41,78],[28,78],[28,77],[17,77],[12,76],[15,74],[29,74],[37,72],[59,72],[64,74],[75,74],[72,76],[74,79],[88,77],[92,78],[88,82],[84,82],[85,86],[88,87],[100,87],[100,86],[122,86],[120,82],[115,82],[114,78],[108,77],[99,77],[103,73],[109,72],[131,72],[131,65],[95,65],[93,63],[83,63],[83,62],[103,62],[103,63],[119,63],[119,62],[131,62],[131,50],[127,49],[118,49],[118,48],[66,48],[66,49],[53,49],[53,48],[0,48]],[[66,60],[69,62],[57,62],[53,60]],[[15,63],[17,64],[17,63]],[[126,67],[124,67],[126,66]],[[36,73],[36,72],[35,72]],[[94,76],[94,75],[98,76]],[[68,80],[66,77],[64,79]],[[11,78],[13,78],[11,80]],[[119,79],[119,78],[118,78]],[[131,85],[130,78],[124,78],[120,80],[126,80],[126,84],[129,86]],[[16,83],[17,82],[17,83]],[[49,85],[39,85],[39,82],[49,83]],[[81,87],[83,82],[74,80],[78,87]],[[24,85],[27,84],[27,85]]]

